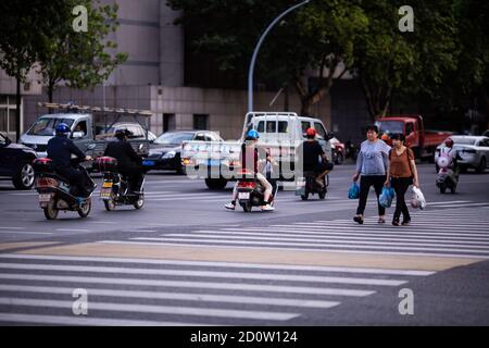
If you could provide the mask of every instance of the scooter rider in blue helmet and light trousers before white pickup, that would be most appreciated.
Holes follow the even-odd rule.
[[[260,182],[260,184],[265,188],[265,191],[263,194],[263,200],[267,202],[269,200],[269,197],[272,195],[273,187],[266,179],[266,177],[260,173],[259,171],[259,150],[256,148],[256,141],[260,137],[260,134],[255,129],[250,129],[247,133],[246,141],[241,145],[241,164],[242,169],[247,169],[250,172],[254,173],[256,175],[256,179]],[[252,156],[253,158],[250,159],[249,157]],[[272,157],[269,153],[266,153],[266,162],[273,162]],[[238,182],[236,182],[235,187],[233,189],[233,199],[230,203],[225,204],[224,207],[229,210],[236,209],[236,200],[238,199]],[[274,207],[266,203],[265,206],[262,206],[262,211],[272,211],[275,210]]]

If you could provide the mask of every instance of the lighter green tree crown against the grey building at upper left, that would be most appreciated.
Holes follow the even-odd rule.
[[[60,82],[74,88],[89,88],[103,83],[116,65],[127,60],[126,53],[108,52],[117,47],[106,39],[118,26],[116,4],[101,5],[99,0],[67,0],[65,4],[63,18],[57,23],[57,34],[46,40],[39,59],[39,72],[50,102]],[[87,9],[87,32],[77,33],[73,28],[72,9],[76,5]]]

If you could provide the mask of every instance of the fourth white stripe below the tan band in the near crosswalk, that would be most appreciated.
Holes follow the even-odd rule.
[[[306,308],[331,308],[340,304],[338,301],[319,301],[305,299],[287,299],[269,297],[250,297],[250,296],[227,296],[227,295],[208,295],[199,293],[163,293],[163,291],[131,291],[116,289],[86,289],[89,296],[122,297],[122,298],[143,298],[143,299],[163,299],[163,300],[183,300],[198,302],[226,302],[226,303],[247,303],[264,306],[288,306]],[[43,294],[63,294],[71,295],[71,287],[49,287],[49,286],[24,286],[24,285],[0,285],[0,291],[15,293],[43,293]]]

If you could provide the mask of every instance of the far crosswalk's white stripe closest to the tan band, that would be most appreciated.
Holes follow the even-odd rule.
[[[168,239],[166,239],[168,240]],[[188,244],[189,240],[187,240],[186,238],[172,238],[168,241],[181,241],[181,243],[186,243]],[[209,239],[193,239],[193,245],[199,244],[199,243],[208,243],[208,244],[217,244],[217,245],[229,245],[229,247],[231,247],[233,245],[248,245],[248,248],[252,248],[251,245],[254,246],[291,246],[291,247],[317,247],[317,250],[321,251],[323,247],[333,247],[333,248],[346,248],[346,249],[378,249],[378,250],[391,250],[391,249],[396,249],[396,250],[412,250],[412,251],[438,251],[438,252],[469,252],[469,253],[477,253],[477,254],[484,254],[484,256],[488,256],[489,257],[489,250],[474,250],[474,249],[459,249],[459,248],[425,248],[425,247],[396,247],[393,248],[392,246],[362,246],[362,245],[358,245],[358,246],[352,246],[352,245],[348,245],[348,244],[343,244],[343,245],[331,245],[331,244],[314,244],[314,243],[275,243],[275,241],[235,241],[235,240],[209,240]],[[136,241],[138,243],[138,241]],[[143,245],[159,245],[158,241],[154,243],[145,243]],[[190,244],[191,245],[191,244]],[[486,252],[485,252],[486,251]]]

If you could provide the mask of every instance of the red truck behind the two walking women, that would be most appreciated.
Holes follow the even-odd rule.
[[[426,130],[421,115],[389,115],[378,119],[381,138],[391,145],[390,135],[400,133],[405,136],[405,144],[413,149],[417,159],[434,161],[438,145],[452,135],[450,132]]]

